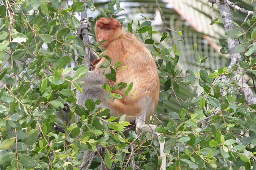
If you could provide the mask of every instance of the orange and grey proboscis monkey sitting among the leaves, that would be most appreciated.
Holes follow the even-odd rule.
[[[91,28],[86,18],[82,19],[80,23],[79,33],[83,29]],[[145,121],[154,112],[159,98],[157,67],[150,51],[133,34],[126,33],[120,22],[114,18],[100,18],[96,22],[95,32],[98,42],[107,40],[100,45],[101,48],[107,50],[104,55],[110,56],[112,63],[121,61],[122,65],[127,67],[124,70],[117,69],[116,82],[108,81],[103,76],[104,69],[100,68],[106,59],[101,58],[95,65],[96,68],[88,71],[82,79],[84,81],[83,92],[77,92],[78,104],[84,105],[88,98],[100,99],[102,102],[99,107],[110,109],[112,116],[118,117],[125,114],[126,121],[136,125],[138,135],[140,132],[147,131],[159,136],[160,134],[155,132],[156,125],[145,124]],[[105,72],[109,73],[110,68],[106,68]],[[102,89],[102,85],[108,83],[110,86],[114,86],[120,82],[127,84],[133,82],[132,90],[136,89],[134,97],[124,95],[125,89],[122,89],[119,92],[115,91],[123,97],[122,99],[106,100],[108,92]],[[164,142],[160,142],[161,169],[165,170],[166,158],[163,149]]]

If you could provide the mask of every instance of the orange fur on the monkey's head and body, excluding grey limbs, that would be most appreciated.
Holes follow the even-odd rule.
[[[102,29],[100,29],[100,27]],[[107,29],[110,30],[107,30]],[[112,59],[112,64],[121,61],[122,66],[127,66],[124,70],[117,69],[116,82],[110,81],[110,85],[116,85],[120,82],[127,84],[133,82],[132,91],[136,90],[133,97],[124,95],[122,89],[116,93],[120,94],[123,99],[109,100],[112,115],[138,117],[141,113],[141,105],[147,104],[147,100],[152,98],[154,103],[152,109],[146,113],[146,119],[153,113],[159,98],[159,78],[154,58],[150,54],[147,47],[141,43],[131,33],[124,32],[121,24],[113,18],[100,18],[96,23],[96,39],[97,41],[108,40],[102,44],[108,55]],[[105,61],[104,58],[96,65],[97,68]],[[109,68],[107,69],[109,71]],[[148,97],[148,98],[145,98]],[[134,118],[127,117],[129,122],[133,122]]]

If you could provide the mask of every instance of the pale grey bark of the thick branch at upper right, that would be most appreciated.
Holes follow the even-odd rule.
[[[233,24],[233,18],[231,15],[230,7],[232,6],[235,9],[238,9],[239,11],[242,10],[242,8],[238,7],[237,5],[234,5],[228,0],[209,0],[210,3],[217,4],[219,11],[220,11],[220,16],[222,17],[223,20],[223,25],[226,31],[235,29],[236,26]],[[250,12],[250,11],[248,11]],[[235,64],[237,64],[238,69],[240,68],[238,61],[241,60],[241,55],[239,53],[235,53],[235,48],[239,44],[238,39],[231,39],[228,38],[228,49],[229,49],[229,54],[230,54],[230,59],[231,62],[228,66],[228,70],[232,70]],[[227,80],[226,76],[222,76],[222,81]],[[242,87],[239,91],[244,93],[244,98],[247,104],[255,104],[256,103],[256,97],[248,84],[246,83],[244,76],[239,78],[239,82],[241,83]]]

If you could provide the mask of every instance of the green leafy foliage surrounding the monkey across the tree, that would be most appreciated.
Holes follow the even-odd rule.
[[[91,0],[86,2],[91,11],[99,10],[103,17],[115,17],[124,10],[119,0],[109,2],[106,9],[96,9]],[[83,90],[81,79],[89,70],[83,65],[85,46],[74,35],[79,27],[74,15],[84,10],[83,4],[74,1],[62,8],[57,0],[51,3],[36,0],[1,2],[0,169],[79,169],[83,156],[80,151],[96,152],[99,146],[107,147],[104,161],[108,168],[131,169],[126,159],[131,154],[141,169],[159,168],[159,148],[152,143],[151,134],[137,138],[135,131],[130,130],[124,136],[122,132],[130,124],[125,121],[125,115],[119,119],[109,116],[108,109],[98,108],[100,100],[88,99],[85,107],[76,104],[74,89]],[[241,84],[232,79],[237,74],[236,67],[230,71],[219,68],[210,74],[204,68],[186,70],[184,76],[177,68],[182,47],[173,44],[182,32],[179,31],[176,37],[164,32],[153,39],[157,31],[153,30],[151,21],[143,19],[142,23],[128,23],[127,30],[152,47],[158,65],[159,103],[168,122],[159,121],[156,131],[164,133],[167,169],[229,169],[230,162],[235,164],[235,169],[241,166],[250,169],[255,164],[252,156],[256,151],[252,146],[256,145],[256,105],[246,105],[243,94],[237,91]],[[92,28],[94,20],[90,18]],[[124,20],[119,19],[121,23]],[[254,15],[241,26],[237,24],[237,30],[226,33],[229,38],[241,38],[241,44],[235,49],[244,54],[239,61],[244,69],[238,72],[240,75],[246,71],[256,74],[255,23]],[[94,30],[90,33],[94,34]],[[221,42],[223,48],[227,48],[225,40]],[[100,43],[93,42],[96,45],[90,48],[106,58],[107,63],[101,68],[110,67],[111,72],[105,76],[115,81],[116,70],[125,71],[125,66],[111,63],[111,58],[99,48]],[[165,48],[162,44],[172,44],[172,47]],[[197,51],[196,43],[194,50]],[[200,64],[207,60],[197,52],[196,56]],[[65,76],[72,70],[71,61],[76,63],[75,74]],[[228,76],[230,81],[217,81],[222,75]],[[177,97],[180,85],[192,88],[195,97],[180,101],[186,107],[179,113],[169,112],[165,104],[171,97],[180,100]],[[119,82],[116,86],[105,84],[102,88],[108,92],[107,99],[113,96],[118,100],[122,96],[114,91],[125,88],[125,95],[133,95],[132,86],[132,83]],[[203,92],[199,91],[200,87]],[[63,121],[66,112],[69,122]],[[75,115],[81,119],[76,121]],[[150,121],[158,116],[151,116]],[[63,128],[64,133],[55,130],[55,125]],[[80,129],[83,130],[81,136]],[[129,149],[131,144],[135,154]],[[110,146],[114,146],[116,152],[111,151]],[[100,162],[100,157],[96,156],[91,168],[99,167]]]

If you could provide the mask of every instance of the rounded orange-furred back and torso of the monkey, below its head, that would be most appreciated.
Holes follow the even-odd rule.
[[[125,89],[113,91],[123,99],[110,101],[110,106],[115,108],[119,116],[137,116],[139,112],[143,112],[146,105],[146,112],[150,112],[146,114],[148,118],[159,98],[159,78],[153,56],[148,48],[130,33],[124,33],[110,42],[106,50],[105,54],[112,58],[112,64],[121,61],[122,66],[127,66],[124,70],[117,69],[116,82],[110,81],[110,84],[113,86],[120,82],[133,82],[131,92],[136,90],[133,96],[124,95]]]

